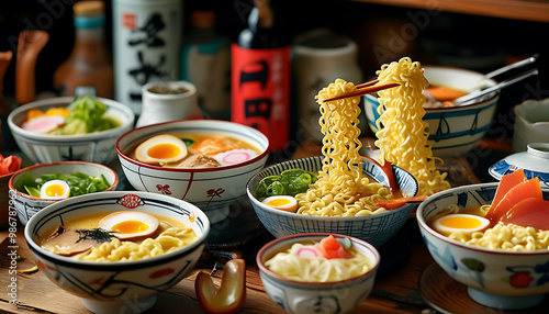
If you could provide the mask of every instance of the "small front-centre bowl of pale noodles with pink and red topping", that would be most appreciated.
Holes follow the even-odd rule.
[[[323,248],[339,248],[337,258]],[[372,291],[380,255],[355,237],[311,233],[267,243],[256,261],[265,291],[289,313],[348,313]]]

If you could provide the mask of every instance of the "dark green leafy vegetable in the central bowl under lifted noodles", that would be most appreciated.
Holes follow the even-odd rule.
[[[282,171],[279,176],[264,178],[257,189],[256,198],[262,201],[265,198],[273,195],[291,195],[303,193],[309,186],[316,182],[317,173],[302,169],[291,169]]]

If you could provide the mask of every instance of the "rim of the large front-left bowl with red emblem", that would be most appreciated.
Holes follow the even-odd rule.
[[[202,215],[205,218],[205,222],[202,223],[204,233],[200,236],[197,236],[197,239],[194,242],[190,243],[189,245],[184,247],[180,247],[178,249],[175,249],[172,251],[154,256],[150,258],[145,258],[145,259],[139,259],[139,260],[117,260],[117,261],[112,261],[112,262],[98,262],[98,261],[92,261],[92,260],[79,260],[79,259],[74,259],[71,257],[66,257],[66,256],[60,256],[53,254],[51,251],[47,251],[40,247],[38,244],[34,242],[34,234],[35,229],[37,228],[37,223],[34,221],[38,221],[40,223],[43,224],[42,220],[46,218],[47,216],[51,216],[49,218],[53,218],[59,214],[63,214],[64,212],[70,211],[67,210],[66,208],[71,208],[71,206],[77,206],[80,202],[79,201],[87,201],[87,202],[93,202],[93,201],[101,201],[97,200],[97,198],[102,197],[101,194],[104,194],[105,199],[110,200],[120,200],[120,198],[126,195],[126,194],[136,194],[138,195],[142,200],[148,200],[150,203],[160,203],[164,204],[166,208],[169,206],[177,206],[178,209],[183,209],[182,205],[178,205],[177,203],[184,202],[187,205],[191,206],[192,210],[195,212],[202,213]],[[153,198],[147,198],[147,195],[150,195]],[[91,199],[91,200],[86,200],[86,199]],[[93,200],[96,199],[96,200]],[[70,200],[70,199],[67,199]],[[78,269],[85,269],[85,270],[101,270],[101,271],[112,271],[112,270],[134,270],[134,269],[139,269],[143,266],[149,267],[149,266],[156,266],[156,265],[163,265],[176,259],[181,258],[181,254],[191,254],[195,249],[200,248],[201,245],[204,245],[204,242],[206,240],[208,234],[210,233],[210,222],[208,220],[208,216],[205,213],[197,208],[195,205],[182,201],[182,200],[177,200],[173,199],[172,197],[169,195],[164,195],[164,194],[156,194],[156,193],[149,193],[149,192],[138,192],[138,191],[111,191],[111,192],[98,192],[94,194],[86,194],[86,195],[78,195],[75,197],[74,199],[70,200],[69,205],[65,205],[64,202],[67,200],[61,200],[59,202],[56,202],[52,205],[48,205],[44,208],[42,211],[37,212],[35,215],[33,215],[29,222],[25,225],[24,228],[24,236],[26,239],[26,243],[29,244],[29,248],[33,251],[33,255],[37,255],[46,260],[52,260],[56,265],[59,266],[66,266],[66,267],[71,267],[71,268],[78,268]],[[104,199],[102,199],[104,201]],[[109,203],[112,204],[112,203]],[[51,211],[59,211],[65,209],[63,213],[49,213]],[[76,210],[76,209],[75,209]],[[135,211],[135,209],[133,209]],[[189,210],[186,210],[189,211]],[[48,220],[49,220],[48,218]],[[34,225],[33,229],[31,229],[31,225]]]

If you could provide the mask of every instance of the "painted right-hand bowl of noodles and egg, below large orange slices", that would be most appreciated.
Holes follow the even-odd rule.
[[[500,311],[533,309],[549,292],[549,226],[488,224],[497,187],[463,186],[429,197],[417,209],[419,231],[435,262],[473,301]],[[540,194],[549,200],[549,189]]]

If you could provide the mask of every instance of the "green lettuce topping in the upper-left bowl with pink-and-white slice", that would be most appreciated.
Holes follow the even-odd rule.
[[[53,134],[72,135],[100,132],[114,128],[120,123],[113,119],[104,117],[108,108],[91,96],[75,99],[69,105],[69,115],[65,125]]]

